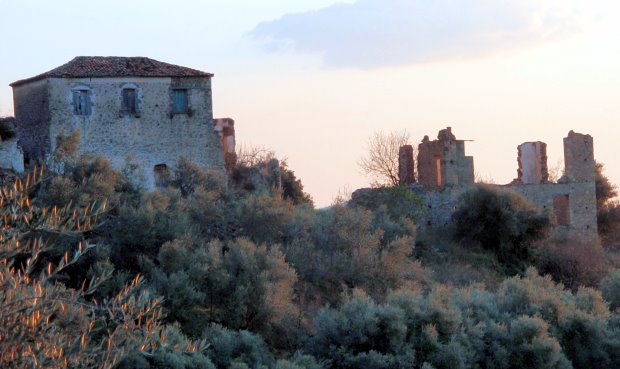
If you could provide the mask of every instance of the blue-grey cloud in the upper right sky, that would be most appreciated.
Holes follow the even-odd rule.
[[[268,51],[320,53],[328,67],[373,68],[477,57],[579,30],[561,1],[358,0],[258,24]]]

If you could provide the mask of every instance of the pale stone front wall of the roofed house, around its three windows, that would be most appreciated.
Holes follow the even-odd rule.
[[[74,88],[89,89],[89,115],[74,113]],[[123,88],[135,88],[137,114],[123,112]],[[189,114],[172,114],[174,88],[188,90]],[[155,186],[156,165],[172,169],[182,157],[207,168],[224,168],[222,145],[213,129],[209,78],[50,78],[49,96],[52,150],[58,134],[79,130],[80,152],[101,154],[118,169],[131,157],[147,188]]]

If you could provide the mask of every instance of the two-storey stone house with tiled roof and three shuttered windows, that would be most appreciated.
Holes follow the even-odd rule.
[[[14,82],[26,163],[45,161],[59,134],[79,131],[79,152],[103,155],[117,169],[131,160],[147,188],[180,158],[223,170],[234,122],[215,129],[211,77],[144,57],[82,56]]]

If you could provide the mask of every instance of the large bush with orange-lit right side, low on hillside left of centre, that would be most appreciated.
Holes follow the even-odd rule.
[[[207,245],[175,240],[161,247],[156,260],[142,258],[141,264],[164,296],[169,318],[192,336],[219,323],[284,346],[295,340],[287,318],[297,313],[292,302],[297,277],[276,247],[246,239]]]

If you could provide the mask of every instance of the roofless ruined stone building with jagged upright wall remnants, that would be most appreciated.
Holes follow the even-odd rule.
[[[474,185],[473,157],[465,155],[465,141],[457,140],[450,127],[436,140],[425,136],[418,146],[418,178],[411,146],[399,155],[401,183],[417,192],[424,204],[421,227],[447,225],[460,195]],[[517,178],[501,185],[522,195],[541,210],[547,210],[559,233],[591,240],[598,237],[596,223],[595,162],[590,135],[570,131],[564,138],[564,176],[549,181],[547,146],[526,142],[518,146]],[[411,152],[411,154],[408,154]]]

